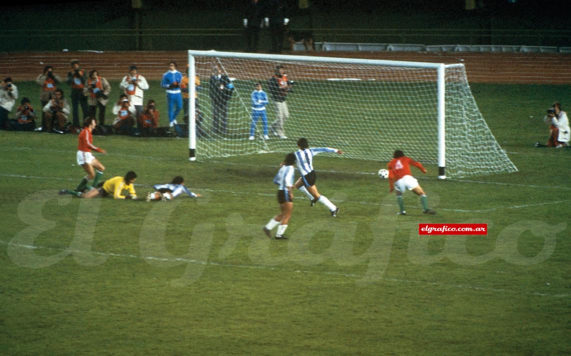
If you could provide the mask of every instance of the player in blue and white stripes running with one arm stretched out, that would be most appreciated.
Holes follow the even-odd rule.
[[[299,148],[295,152],[297,170],[301,174],[300,179],[295,182],[295,187],[305,193],[307,197],[311,200],[311,206],[315,205],[317,201],[325,205],[331,212],[332,217],[336,217],[339,213],[339,208],[335,204],[331,203],[326,196],[320,195],[315,186],[316,175],[313,170],[313,156],[318,155],[323,152],[339,153],[343,155],[343,151],[336,148],[320,147],[320,148],[309,148],[307,139],[301,137],[297,140],[297,147]]]

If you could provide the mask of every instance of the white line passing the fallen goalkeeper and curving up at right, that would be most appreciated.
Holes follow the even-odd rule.
[[[75,181],[74,179],[65,179],[59,177],[39,177],[39,176],[24,176],[24,175],[10,175],[10,174],[0,174],[0,177],[12,177],[12,178],[25,178],[25,179],[53,179],[53,180],[65,180],[65,181]],[[150,188],[152,185],[148,184],[135,184],[137,187],[147,187]],[[235,191],[228,191],[226,189],[210,189],[210,188],[191,188],[191,190],[195,191],[204,191],[204,192],[212,192],[212,193],[229,193],[232,195],[259,195],[259,196],[275,196],[275,194],[270,193],[259,193],[259,192],[235,192]],[[295,200],[305,200],[303,197],[295,197]],[[393,204],[379,204],[369,201],[352,201],[352,200],[339,200],[339,199],[330,199],[331,201],[335,201],[336,203],[349,203],[349,204],[359,204],[359,205],[375,205],[377,207],[394,207]],[[496,207],[496,208],[489,208],[489,209],[477,209],[477,210],[468,210],[468,209],[452,209],[452,208],[439,208],[441,211],[450,211],[450,212],[457,212],[457,213],[486,213],[486,212],[493,212],[498,211],[501,209],[523,209],[523,208],[532,208],[532,207],[540,207],[542,205],[549,205],[549,204],[559,204],[559,203],[568,203],[571,199],[568,200],[559,200],[559,201],[548,201],[545,203],[536,203],[536,204],[525,204],[525,205],[513,205],[512,207]],[[410,207],[409,209],[420,209],[419,207]]]

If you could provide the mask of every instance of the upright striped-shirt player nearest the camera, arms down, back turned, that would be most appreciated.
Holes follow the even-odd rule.
[[[272,229],[278,226],[278,232],[276,232],[275,238],[280,240],[287,238],[284,236],[286,232],[287,224],[289,218],[291,218],[291,211],[293,209],[293,179],[295,173],[293,172],[293,165],[295,164],[295,155],[293,153],[288,153],[286,159],[282,163],[282,168],[278,171],[278,174],[274,177],[274,183],[279,185],[278,190],[278,203],[280,208],[282,208],[282,213],[276,215],[273,219],[268,221],[266,226],[262,229],[268,237],[272,237]]]

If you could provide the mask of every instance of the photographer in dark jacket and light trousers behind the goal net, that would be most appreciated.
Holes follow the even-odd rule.
[[[286,98],[292,92],[293,80],[288,80],[286,68],[284,66],[276,66],[274,76],[268,80],[268,91],[274,100],[276,108],[276,120],[272,123],[272,132],[280,139],[287,139],[284,124],[289,118],[289,111],[287,109]]]

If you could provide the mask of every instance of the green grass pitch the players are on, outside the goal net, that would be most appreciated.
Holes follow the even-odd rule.
[[[472,85],[519,172],[441,181],[428,165],[436,216],[412,194],[396,215],[384,163],[318,156],[339,217],[296,192],[286,241],[261,230],[283,153],[189,163],[184,139],[96,136],[104,177],[132,169],[144,197],[182,175],[203,196],[81,200],[57,195],[83,176],[77,136],[0,131],[0,354],[570,354],[571,149],[533,147],[570,89]],[[146,98],[166,123],[163,93]]]

